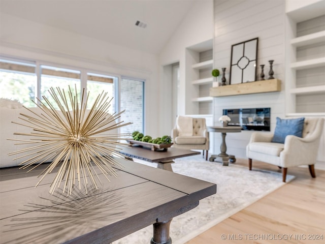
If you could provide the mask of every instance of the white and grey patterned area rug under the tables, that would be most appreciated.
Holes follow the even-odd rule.
[[[156,167],[155,163],[135,161]],[[205,161],[201,155],[176,159],[172,167],[175,173],[217,184],[215,195],[201,200],[198,207],[172,220],[170,236],[173,244],[185,243],[285,184],[281,173],[249,171],[248,166],[236,164],[222,166],[221,163]],[[287,175],[286,181],[293,178]],[[113,243],[148,244],[151,237],[152,226],[148,226]]]

